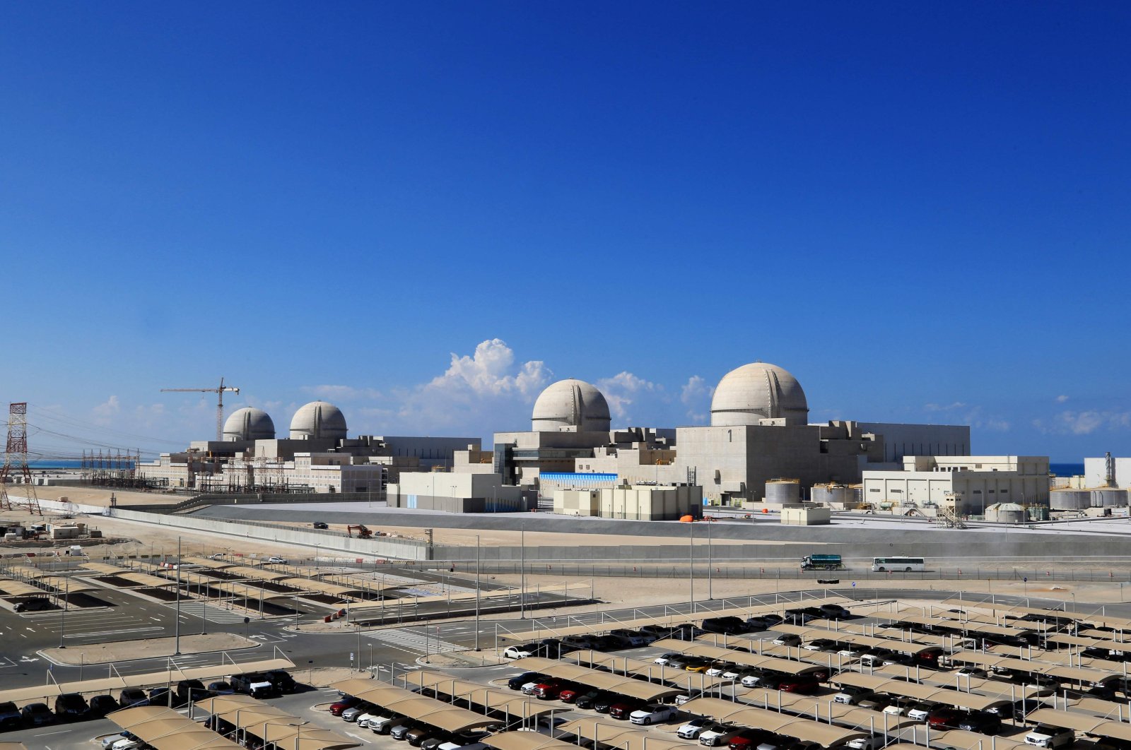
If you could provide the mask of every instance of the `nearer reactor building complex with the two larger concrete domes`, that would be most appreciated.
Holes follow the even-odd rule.
[[[698,485],[705,505],[740,505],[765,499],[776,478],[796,479],[804,495],[815,485],[858,483],[866,469],[899,470],[906,455],[923,451],[965,456],[969,435],[969,427],[952,425],[811,425],[797,378],[751,363],[719,381],[710,425],[674,429],[613,429],[598,389],[559,381],[535,402],[529,431],[495,433],[490,453],[457,452],[455,471],[497,473],[543,496],[558,488]],[[601,479],[586,479],[594,474]]]

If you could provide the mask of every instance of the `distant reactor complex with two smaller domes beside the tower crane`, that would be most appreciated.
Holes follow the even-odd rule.
[[[312,401],[277,438],[265,411],[239,409],[225,420],[222,441],[195,441],[163,453],[139,472],[155,483],[201,492],[364,492],[383,498],[402,472],[450,469],[456,451],[477,451],[477,437],[348,437],[345,415]]]

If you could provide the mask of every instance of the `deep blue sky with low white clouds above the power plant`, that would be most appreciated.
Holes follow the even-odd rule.
[[[1128,455],[1129,32],[1117,2],[7,3],[0,399],[60,453],[207,437],[211,396],[158,391],[221,375],[280,429],[325,396],[490,435],[567,376],[696,424],[761,359],[814,420]]]

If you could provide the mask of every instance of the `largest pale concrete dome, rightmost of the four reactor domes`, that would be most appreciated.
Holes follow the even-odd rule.
[[[809,424],[809,403],[797,378],[777,365],[751,363],[723,376],[710,402],[715,427],[757,425],[759,419]]]

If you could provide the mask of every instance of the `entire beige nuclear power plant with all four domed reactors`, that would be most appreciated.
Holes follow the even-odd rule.
[[[805,504],[981,515],[1051,499],[1047,457],[972,455],[964,425],[810,422],[798,380],[761,361],[719,380],[709,425],[614,427],[601,390],[568,378],[535,400],[529,430],[494,433],[489,450],[474,437],[349,437],[342,410],[313,401],[285,438],[268,413],[244,408],[222,441],[140,469],[172,488],[375,494],[390,507],[464,513],[533,509],[542,498],[559,513],[633,518]],[[1055,502],[1080,505],[1067,498]]]

